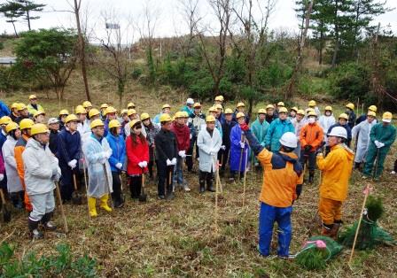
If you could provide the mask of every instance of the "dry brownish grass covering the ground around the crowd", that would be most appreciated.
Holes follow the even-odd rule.
[[[74,87],[75,86],[75,87]],[[104,84],[92,84],[96,104],[107,99]],[[82,88],[72,85],[67,88],[70,96],[68,106],[81,103]],[[169,101],[181,103],[183,96],[153,97],[145,95],[138,87],[135,94],[128,93],[124,100],[134,100],[140,112],[157,112],[160,103]],[[72,94],[71,92],[74,93]],[[132,89],[131,89],[132,92]],[[39,96],[45,96],[39,93]],[[26,97],[23,96],[23,97]],[[7,96],[11,102],[22,96]],[[174,101],[173,101],[174,100]],[[110,102],[110,101],[109,101]],[[113,102],[115,103],[115,101]],[[44,107],[51,113],[58,112],[56,100],[43,100]],[[64,108],[64,107],[62,107]],[[71,109],[71,108],[69,108]],[[393,149],[392,153],[394,153]],[[386,159],[384,180],[374,184],[373,194],[383,197],[385,216],[379,224],[397,237],[397,188],[393,177],[387,174],[393,165],[393,156]],[[318,173],[316,174],[318,175]],[[393,277],[397,273],[396,247],[380,247],[374,251],[357,251],[354,263],[347,266],[349,251],[331,261],[326,273],[307,272],[293,261],[264,259],[256,251],[261,174],[250,172],[247,177],[245,207],[242,208],[242,184],[223,181],[224,194],[219,203],[219,233],[214,234],[214,194],[200,195],[198,175],[188,176],[192,191],[178,191],[171,202],[157,200],[157,187],[148,184],[150,199],[138,203],[128,197],[122,209],[112,213],[99,211],[99,217],[90,220],[86,205],[66,205],[70,232],[68,235],[47,234],[45,240],[31,242],[27,234],[26,213],[14,214],[11,223],[0,223],[2,238],[16,244],[19,257],[28,251],[52,252],[57,243],[70,244],[74,254],[88,253],[98,261],[98,274],[103,277],[130,276],[186,276],[186,277]],[[344,205],[344,220],[351,224],[359,217],[364,184],[360,175],[354,173],[349,197]],[[317,184],[307,185],[300,200],[294,205],[292,215],[292,253],[299,251],[307,239],[317,208]],[[61,226],[60,216],[55,220]],[[61,229],[59,229],[61,231]],[[13,232],[13,233],[12,233]],[[12,234],[12,235],[11,235]],[[314,233],[316,234],[316,233]],[[11,235],[11,236],[10,236]]]

